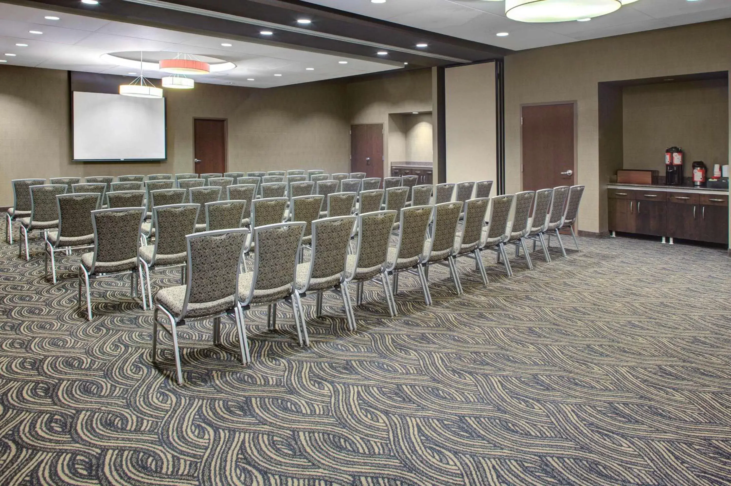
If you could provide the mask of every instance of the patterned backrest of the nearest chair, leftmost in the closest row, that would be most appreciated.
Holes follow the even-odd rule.
[[[181,318],[188,304],[232,297],[233,306],[247,234],[246,228],[235,228],[186,235],[188,280]]]

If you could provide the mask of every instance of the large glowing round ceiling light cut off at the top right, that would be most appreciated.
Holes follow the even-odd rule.
[[[621,0],[505,0],[505,16],[520,22],[567,22],[615,12]]]

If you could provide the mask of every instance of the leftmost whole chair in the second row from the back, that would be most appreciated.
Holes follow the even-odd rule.
[[[79,296],[81,307],[81,284],[86,287],[86,320],[91,320],[90,280],[108,274],[129,271],[132,297],[137,296],[137,282],[140,283],[143,309],[147,310],[142,266],[139,259],[140,228],[145,220],[145,208],[123,207],[97,209],[91,212],[94,225],[94,251],[81,255],[78,268]],[[136,275],[136,277],[135,277]]]

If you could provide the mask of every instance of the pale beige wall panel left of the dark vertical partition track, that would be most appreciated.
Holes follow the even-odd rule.
[[[447,182],[495,180],[495,64],[444,72]]]

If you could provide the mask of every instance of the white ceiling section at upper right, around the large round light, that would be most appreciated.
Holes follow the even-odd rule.
[[[386,0],[383,4],[370,0],[307,1],[512,50],[731,18],[731,0],[639,0],[588,22],[561,23],[510,20],[505,17],[504,1]],[[498,32],[510,35],[498,37],[495,35]]]

